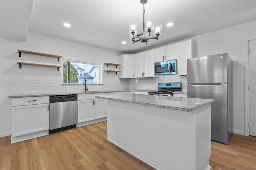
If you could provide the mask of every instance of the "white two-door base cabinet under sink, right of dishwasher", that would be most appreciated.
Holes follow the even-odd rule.
[[[107,100],[94,98],[97,95],[106,95],[107,93],[98,94],[79,94],[77,102],[77,117],[78,123],[91,121],[107,117]]]

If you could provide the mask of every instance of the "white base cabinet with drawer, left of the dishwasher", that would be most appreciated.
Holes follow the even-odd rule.
[[[12,98],[12,143],[47,135],[49,96]],[[45,133],[37,133],[45,131]],[[34,135],[30,135],[34,133]]]

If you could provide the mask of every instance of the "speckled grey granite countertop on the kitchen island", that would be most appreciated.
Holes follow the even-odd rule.
[[[193,111],[202,106],[214,102],[212,99],[198,99],[198,98],[181,98],[168,96],[150,96],[141,94],[110,94],[95,96],[96,98],[103,98],[119,102],[128,102],[133,104],[141,104],[146,106],[161,107],[165,109],[174,109],[180,111]]]

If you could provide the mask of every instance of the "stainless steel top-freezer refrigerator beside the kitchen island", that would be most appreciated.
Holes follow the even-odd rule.
[[[188,59],[188,98],[214,99],[211,137],[228,144],[232,135],[232,59],[228,53]]]

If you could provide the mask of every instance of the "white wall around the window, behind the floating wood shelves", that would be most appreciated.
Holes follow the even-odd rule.
[[[0,137],[10,135],[11,132],[11,99],[8,97],[10,95],[10,74],[14,79],[15,77],[23,77],[23,79],[21,78],[23,81],[13,81],[12,94],[25,94],[29,90],[32,90],[31,92],[34,93],[47,93],[52,91],[65,92],[69,90],[73,92],[74,90],[82,91],[84,89],[84,86],[61,86],[62,71],[58,72],[57,68],[22,65],[22,69],[20,69],[17,61],[36,61],[52,64],[58,64],[58,62],[56,58],[34,57],[23,54],[19,58],[18,49],[62,55],[66,59],[91,61],[102,63],[102,65],[107,62],[118,63],[118,55],[120,55],[114,51],[31,32],[28,32],[26,42],[0,38]],[[104,69],[106,69],[105,65],[103,65]],[[35,80],[36,78],[38,79]],[[52,80],[56,80],[57,83],[51,84],[50,82]],[[43,88],[44,81],[49,82],[47,89]],[[109,90],[113,88],[127,89],[128,80],[119,80],[118,75],[103,72],[103,85],[89,86],[90,90]]]

